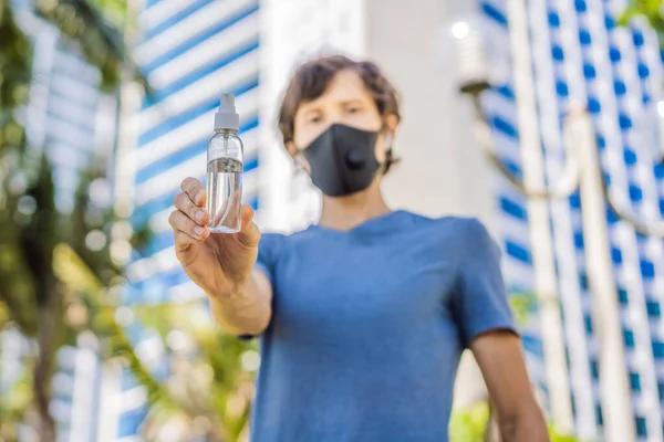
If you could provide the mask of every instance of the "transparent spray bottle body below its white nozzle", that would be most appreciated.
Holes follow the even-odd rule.
[[[237,233],[241,229],[243,146],[237,130],[216,130],[208,143],[207,210],[212,233]]]

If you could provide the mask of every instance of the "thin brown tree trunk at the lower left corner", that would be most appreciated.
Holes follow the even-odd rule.
[[[54,333],[53,316],[49,306],[40,308],[39,323],[39,356],[34,365],[32,388],[37,401],[37,411],[40,417],[39,434],[41,442],[55,442],[55,421],[49,410],[51,403],[52,339]]]

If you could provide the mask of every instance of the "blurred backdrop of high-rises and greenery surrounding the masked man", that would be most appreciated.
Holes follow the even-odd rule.
[[[388,202],[499,241],[557,441],[664,441],[661,0],[0,0],[0,441],[245,441],[256,343],[224,335],[168,213],[237,96],[264,231],[320,196],[276,128],[293,67],[401,92]],[[340,398],[340,400],[343,400]],[[465,355],[454,442],[497,441]]]

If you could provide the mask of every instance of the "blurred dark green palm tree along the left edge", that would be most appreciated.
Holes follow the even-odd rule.
[[[126,56],[122,32],[127,21],[124,1],[37,0],[33,7],[39,17],[58,27],[63,39],[80,48],[90,64],[98,67],[103,90],[117,90],[121,72],[126,70],[145,83]],[[38,432],[43,441],[53,441],[55,424],[49,404],[54,355],[63,345],[74,343],[81,329],[93,329],[107,337],[111,352],[128,358],[155,396],[153,399],[165,396],[115,324],[112,306],[101,301],[105,291],[81,291],[56,272],[54,264],[61,262],[54,256],[68,244],[71,255],[77,256],[79,266],[89,269],[101,287],[122,282],[123,269],[111,260],[108,241],[92,249],[86,245],[91,232],[105,239],[116,221],[113,211],[92,201],[87,191],[92,180],[103,179],[104,165],[96,169],[96,165],[91,165],[91,170],[81,177],[73,212],[60,213],[49,158],[42,146],[28,146],[21,124],[20,112],[28,103],[32,77],[32,48],[7,0],[0,0],[0,330],[12,327],[37,344],[33,361],[25,366],[31,367],[30,376],[18,391],[24,398],[25,386],[31,386],[28,402],[39,415]],[[91,212],[97,215],[90,217]],[[145,239],[144,232],[138,233],[135,238]],[[86,320],[68,316],[77,306],[85,307]],[[28,402],[0,401],[0,422],[24,419],[25,407],[17,406]],[[2,438],[12,438],[10,432],[7,424],[0,427]]]

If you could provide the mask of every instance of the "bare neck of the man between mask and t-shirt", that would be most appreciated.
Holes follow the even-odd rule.
[[[319,225],[351,230],[373,218],[390,213],[392,210],[385,203],[380,187],[374,182],[369,189],[341,198],[323,196],[323,209]]]

